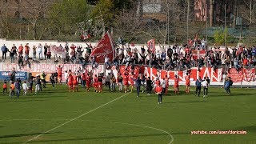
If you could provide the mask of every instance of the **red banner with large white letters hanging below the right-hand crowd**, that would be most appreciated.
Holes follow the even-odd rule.
[[[120,66],[119,72],[121,74],[124,73],[126,66]],[[112,66],[112,70],[115,71],[115,66]],[[222,84],[222,68],[214,70],[210,67],[202,67],[200,70],[198,68],[192,68],[189,71],[173,71],[173,70],[157,70],[155,68],[150,68],[146,66],[134,66],[134,70],[130,69],[130,66],[128,66],[128,72],[129,76],[131,76],[131,72],[133,72],[136,76],[138,76],[139,73],[145,74],[146,78],[150,77],[151,80],[154,81],[155,78],[169,78],[170,82],[174,81],[175,74],[178,75],[180,82],[186,82],[186,72],[190,74],[190,81],[196,81],[199,77],[203,78],[210,78],[210,82],[221,82]],[[244,71],[244,72],[243,72]],[[231,77],[231,80],[233,82],[254,82],[255,78],[255,69],[241,69],[237,72],[236,69],[231,68],[229,70],[229,77]],[[183,83],[184,84],[184,83]]]

